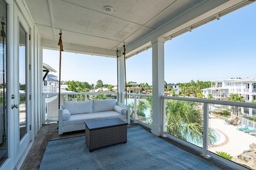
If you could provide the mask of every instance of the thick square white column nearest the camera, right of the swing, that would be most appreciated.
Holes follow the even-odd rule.
[[[163,134],[163,112],[161,95],[164,95],[164,42],[162,37],[154,38],[152,43],[152,82],[153,82],[153,123],[152,133]]]

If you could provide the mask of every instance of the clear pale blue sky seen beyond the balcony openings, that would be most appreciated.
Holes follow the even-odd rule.
[[[253,3],[165,42],[165,80],[182,83],[255,77],[255,16]],[[151,52],[149,49],[126,60],[127,81],[152,84]],[[58,70],[59,52],[44,50],[43,61]],[[98,79],[116,84],[116,59],[63,52],[62,80],[95,84]]]

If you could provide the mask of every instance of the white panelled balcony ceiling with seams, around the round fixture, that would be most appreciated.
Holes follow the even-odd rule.
[[[26,0],[39,34],[57,42],[115,50],[132,44],[201,0]],[[104,6],[114,11],[103,11]]]

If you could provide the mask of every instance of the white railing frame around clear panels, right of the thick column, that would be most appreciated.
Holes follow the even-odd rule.
[[[233,161],[229,161],[225,158],[222,158],[209,150],[209,114],[210,114],[209,105],[217,104],[217,105],[224,105],[224,106],[234,106],[234,107],[254,108],[255,109],[256,108],[255,103],[233,102],[233,101],[223,101],[223,100],[207,100],[207,99],[196,99],[196,98],[182,98],[182,97],[175,97],[175,96],[161,96],[161,98],[162,98],[162,103],[163,103],[163,107],[164,107],[163,108],[164,117],[165,117],[165,102],[166,102],[166,100],[180,100],[180,101],[196,102],[196,103],[203,104],[203,140],[202,140],[203,144],[201,147],[198,147],[195,144],[192,144],[192,143],[189,143],[182,139],[179,139],[178,137],[173,136],[172,134],[166,133],[165,132],[165,121],[162,126],[163,127],[162,131],[164,132],[163,133],[164,135],[170,137],[172,140],[178,141],[179,143],[187,145],[188,147],[191,147],[191,148],[201,152],[204,157],[212,156],[213,158],[216,158],[216,159],[222,161],[223,163],[233,166],[235,168],[247,169],[241,165],[234,163]],[[243,121],[246,121],[246,123],[249,123],[249,122],[253,123],[252,126],[255,127],[254,122],[252,122],[250,120],[245,120],[244,118],[241,118],[241,117],[239,117],[239,119],[240,120],[243,119]],[[165,118],[163,118],[163,120],[165,120]],[[235,129],[235,131],[238,131],[238,130],[236,130],[236,127],[234,127],[234,129]],[[237,146],[237,147],[239,147],[239,146]]]

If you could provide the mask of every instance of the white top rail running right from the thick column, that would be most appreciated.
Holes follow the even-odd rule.
[[[162,95],[161,98],[256,109],[256,103],[249,103],[249,102],[234,102],[234,101],[226,101],[226,100],[210,100],[210,99],[186,98],[186,97],[164,96],[164,95]]]

